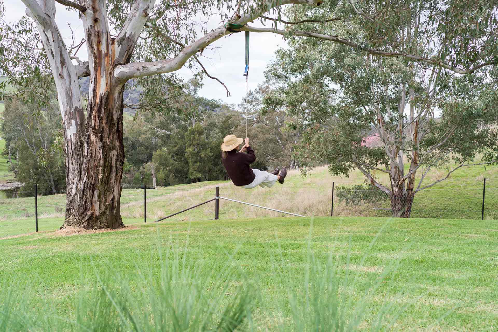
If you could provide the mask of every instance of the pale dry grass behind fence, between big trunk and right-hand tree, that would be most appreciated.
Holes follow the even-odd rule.
[[[342,185],[356,184],[361,181],[361,174],[353,174],[349,178],[331,177],[326,166],[316,167],[309,176],[302,178],[298,171],[288,172],[286,182],[276,183],[272,188],[242,189],[230,182],[220,183],[220,196],[238,201],[248,202],[268,208],[287,211],[304,216],[329,216],[331,212],[332,183]],[[214,187],[177,191],[147,200],[147,218],[157,220],[174,212],[189,208],[203,201],[214,198]],[[368,210],[368,209],[366,209]],[[358,211],[350,213],[343,205],[336,203],[335,216],[358,215]],[[369,211],[370,212],[370,211]],[[122,216],[143,218],[143,202],[132,202],[122,205]],[[283,217],[285,214],[256,207],[220,200],[220,218],[261,218]],[[172,217],[172,220],[191,221],[214,218],[214,202],[194,210]]]

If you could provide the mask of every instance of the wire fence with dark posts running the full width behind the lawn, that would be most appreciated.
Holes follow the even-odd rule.
[[[125,186],[121,196],[124,224],[152,222],[215,198],[216,184],[159,187]],[[218,201],[220,219],[280,217],[285,214],[257,206],[302,216],[401,217],[498,220],[498,186],[495,181],[461,184],[448,188],[428,188],[416,192],[388,195],[365,186],[279,186],[252,190],[220,184],[220,197],[250,203]],[[24,186],[23,188],[28,188]],[[0,198],[0,238],[53,231],[66,216],[66,188],[56,186],[38,190],[3,193]],[[173,221],[215,219],[216,204],[210,202],[175,215]]]

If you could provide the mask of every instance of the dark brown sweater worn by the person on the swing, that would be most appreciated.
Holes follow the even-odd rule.
[[[256,155],[254,150],[250,146],[247,148],[248,153],[239,152],[237,149],[228,151],[227,158],[223,159],[222,162],[227,170],[228,176],[236,186],[246,186],[249,185],[254,178],[254,172],[250,168],[250,164],[256,161]]]

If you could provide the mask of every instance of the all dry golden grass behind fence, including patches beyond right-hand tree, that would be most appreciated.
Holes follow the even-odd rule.
[[[460,171],[460,170],[459,170]],[[454,175],[457,175],[458,172]],[[389,182],[388,175],[377,172],[375,175],[381,183]],[[466,173],[462,169],[461,173]],[[425,183],[430,183],[436,179],[441,179],[446,176],[447,170],[432,170],[424,180]],[[471,171],[465,174],[465,177],[460,176],[458,179],[448,179],[442,184],[451,185],[451,188],[479,188],[482,186],[482,179],[498,180],[498,172],[493,170],[487,171]],[[331,199],[332,199],[332,184],[335,186],[351,186],[354,184],[364,183],[365,178],[359,171],[351,172],[349,177],[333,177],[328,172],[327,166],[315,167],[310,171],[305,178],[301,177],[298,171],[293,170],[288,172],[288,176],[283,185],[276,183],[272,188],[242,189],[234,186],[231,182],[221,182],[220,196],[242,202],[248,202],[276,210],[287,211],[303,216],[330,216]],[[200,183],[202,185],[202,183]],[[444,197],[449,194],[455,195],[454,190],[447,189],[441,191],[441,185],[437,185],[437,197]],[[432,189],[431,189],[432,190]],[[460,190],[460,189],[459,189]],[[467,189],[465,189],[467,190]],[[477,193],[477,194],[476,194]],[[470,194],[480,195],[478,191]],[[154,197],[147,200],[147,219],[157,220],[187,209],[204,201],[210,200],[215,196],[215,187],[211,183],[204,188],[196,188],[191,190],[176,191],[173,194]],[[476,208],[477,209],[477,208]],[[171,217],[175,221],[194,221],[194,220],[209,220],[214,218],[215,204],[214,202],[205,204],[193,210],[187,211],[180,215]],[[373,206],[363,205],[355,207],[346,207],[338,202],[337,197],[334,199],[334,216],[357,216],[369,217],[380,216],[388,212],[373,210]],[[124,218],[143,218],[143,202],[132,202],[122,205],[122,216]],[[263,217],[285,217],[288,215],[264,210],[256,207],[242,205],[235,202],[220,200],[220,218],[221,219],[251,219]],[[497,215],[488,214],[486,218],[496,219]]]

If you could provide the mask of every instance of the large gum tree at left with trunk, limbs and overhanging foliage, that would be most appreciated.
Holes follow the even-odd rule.
[[[55,22],[54,0],[22,2],[29,18],[0,27],[0,69],[11,83],[23,89],[19,94],[28,101],[43,96],[43,87],[34,84],[36,78],[53,78],[65,138],[67,206],[63,226],[123,226],[123,92],[128,80],[137,79],[143,87],[144,103],[169,111],[168,96],[177,79],[168,73],[199,63],[197,54],[202,55],[210,44],[232,32],[272,32],[332,41],[348,45],[350,51],[409,58],[461,74],[496,63],[496,47],[490,41],[496,32],[493,1],[478,0],[471,5],[467,1],[447,1],[433,15],[422,15],[434,24],[435,38],[445,40],[441,52],[429,56],[382,37],[401,31],[393,24],[398,18],[392,15],[410,12],[410,5],[404,1],[375,5],[330,0],[309,11],[301,7],[317,7],[322,0],[57,0],[75,10],[82,21],[85,39],[72,45],[63,40]],[[425,5],[426,1],[420,3]],[[296,18],[304,18],[299,22],[282,20],[281,8],[286,4],[293,4],[295,12],[301,13],[294,15]],[[276,17],[265,16],[271,11]],[[223,23],[199,33],[195,28],[199,19],[207,20],[212,15],[221,16]],[[259,18],[275,24],[264,28],[248,25]],[[278,29],[277,22],[293,28]],[[319,33],[317,24],[330,22],[340,22],[338,26],[359,24],[367,40],[340,36],[341,31]],[[470,43],[470,48],[462,46]],[[76,56],[80,49],[86,49],[88,62]],[[90,77],[88,104],[82,100],[78,85],[78,78],[85,76]]]

